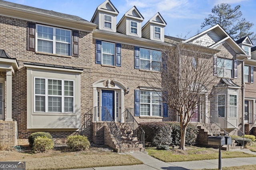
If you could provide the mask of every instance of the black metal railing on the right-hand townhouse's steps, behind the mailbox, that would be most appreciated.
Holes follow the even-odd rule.
[[[218,111],[212,111],[210,117],[202,113],[207,121],[201,123],[211,134],[224,134],[232,137],[244,148],[244,133],[232,125],[226,119],[218,115]]]

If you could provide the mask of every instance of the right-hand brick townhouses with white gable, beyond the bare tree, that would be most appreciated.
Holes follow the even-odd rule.
[[[220,25],[215,25],[183,42],[219,51],[212,58],[213,76],[218,77],[218,82],[212,87],[218,89],[216,98],[204,100],[192,122],[209,123],[211,119],[219,122],[218,125],[228,133],[235,128],[238,135],[252,133],[256,120],[256,90],[255,60],[251,55],[249,37],[234,41]]]

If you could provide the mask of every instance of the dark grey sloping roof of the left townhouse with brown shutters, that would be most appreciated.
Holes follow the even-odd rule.
[[[87,20],[84,20],[83,18],[80,18],[78,16],[63,14],[63,13],[55,12],[55,11],[52,11],[52,10],[44,10],[44,9],[40,9],[40,8],[34,8],[32,6],[16,4],[16,3],[7,2],[7,1],[3,1],[3,0],[0,0],[0,5],[10,6],[10,7],[14,7],[14,8],[22,9],[22,10],[27,10],[27,11],[32,11],[32,12],[36,12],[36,13],[47,14],[47,15],[50,15],[50,16],[57,16],[57,17],[66,18],[66,19],[70,19],[70,20],[75,20],[75,21],[81,21],[81,22],[84,22],[84,23],[94,24],[94,23],[92,23],[90,21],[87,21]]]

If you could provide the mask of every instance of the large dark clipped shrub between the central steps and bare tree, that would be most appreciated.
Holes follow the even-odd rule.
[[[145,142],[151,146],[171,145],[172,129],[164,122],[145,122],[140,124],[145,131]]]

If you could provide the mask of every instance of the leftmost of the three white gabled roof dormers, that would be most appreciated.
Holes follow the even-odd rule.
[[[110,0],[106,0],[97,7],[91,22],[97,24],[98,29],[116,32],[116,16],[118,13]]]

